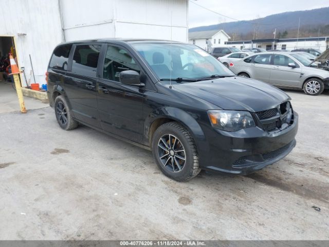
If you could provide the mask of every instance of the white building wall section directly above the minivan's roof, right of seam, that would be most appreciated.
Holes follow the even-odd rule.
[[[187,42],[186,0],[60,0],[60,3],[66,41],[146,38]]]

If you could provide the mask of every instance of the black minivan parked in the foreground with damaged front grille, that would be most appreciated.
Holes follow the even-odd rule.
[[[78,123],[152,150],[176,181],[201,169],[249,174],[296,145],[290,98],[237,77],[197,46],[156,40],[63,43],[51,56],[48,97],[60,127]]]

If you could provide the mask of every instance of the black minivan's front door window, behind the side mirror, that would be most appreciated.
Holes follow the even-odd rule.
[[[119,81],[120,72],[125,70],[135,70],[140,73],[139,66],[125,49],[117,46],[107,46],[103,78],[111,81]]]

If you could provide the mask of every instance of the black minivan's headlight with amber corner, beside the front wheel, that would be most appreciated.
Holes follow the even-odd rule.
[[[211,125],[224,131],[238,131],[245,128],[255,127],[255,121],[251,114],[245,111],[208,111]]]

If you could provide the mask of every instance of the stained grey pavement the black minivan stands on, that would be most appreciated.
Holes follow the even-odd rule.
[[[51,108],[0,114],[0,239],[328,240],[329,94],[287,93],[300,114],[293,152],[248,177],[185,183],[149,151],[61,130]]]

